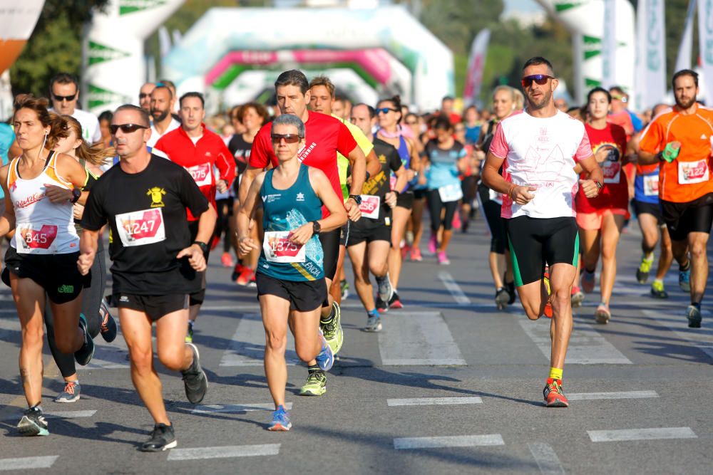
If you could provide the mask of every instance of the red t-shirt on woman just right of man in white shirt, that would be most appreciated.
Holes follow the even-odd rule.
[[[596,198],[585,196],[582,188],[575,200],[578,213],[593,213],[598,209],[627,209],[629,204],[629,187],[627,177],[622,169],[621,160],[626,152],[626,132],[619,125],[607,123],[603,129],[595,129],[585,124],[585,130],[592,144],[592,152],[596,155],[602,147],[609,148],[609,156],[600,164],[604,172],[604,188]],[[586,179],[583,173],[581,179]]]

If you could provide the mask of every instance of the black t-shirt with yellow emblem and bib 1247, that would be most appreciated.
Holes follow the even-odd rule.
[[[114,293],[168,295],[200,290],[188,259],[176,259],[190,246],[186,208],[194,216],[208,209],[188,172],[151,155],[142,172],[111,167],[93,184],[81,225],[97,231],[111,228],[111,273]]]

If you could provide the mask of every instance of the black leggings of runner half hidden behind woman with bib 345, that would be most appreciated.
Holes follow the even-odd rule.
[[[91,266],[91,287],[84,288],[82,292],[82,313],[87,320],[87,328],[91,338],[96,338],[101,328],[101,316],[99,316],[99,306],[101,299],[104,297],[106,288],[106,263],[104,262],[104,244],[99,237],[96,256],[94,263]],[[62,353],[57,348],[54,340],[54,319],[52,310],[48,305],[45,306],[45,325],[47,325],[47,343],[52,352],[54,362],[57,363],[62,377],[68,377],[76,373],[74,366],[74,355],[72,353]]]

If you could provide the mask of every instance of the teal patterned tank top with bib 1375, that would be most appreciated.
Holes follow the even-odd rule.
[[[262,243],[257,272],[282,281],[315,281],[324,277],[324,251],[317,235],[304,246],[289,242],[289,231],[322,219],[322,200],[309,182],[309,167],[299,165],[297,179],[287,189],[272,186],[270,169],[260,187]]]

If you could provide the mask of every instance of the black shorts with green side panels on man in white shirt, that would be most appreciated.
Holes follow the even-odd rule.
[[[505,227],[513,258],[515,286],[539,281],[545,265],[577,266],[579,233],[573,217],[506,219]]]

